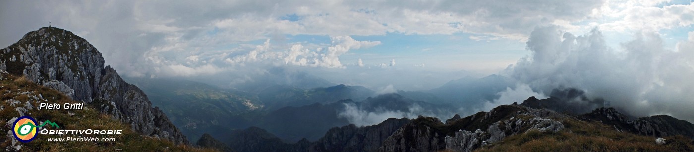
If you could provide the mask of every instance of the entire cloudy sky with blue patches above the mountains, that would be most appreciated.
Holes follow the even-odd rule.
[[[694,108],[692,1],[1,1],[0,46],[49,22],[130,77],[234,85],[285,67],[428,90],[500,74],[518,81],[502,95],[579,87],[645,114],[694,117],[684,112]]]

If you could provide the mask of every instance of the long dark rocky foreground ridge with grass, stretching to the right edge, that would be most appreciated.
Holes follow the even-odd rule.
[[[532,99],[536,98],[531,96],[527,101],[535,102]],[[598,119],[602,117],[605,119]],[[445,124],[434,117],[403,118],[400,120],[407,122],[400,124],[396,130],[391,130],[387,138],[380,138],[378,148],[373,148],[375,147],[373,144],[355,146],[368,145],[365,143],[370,140],[366,139],[376,138],[351,133],[362,128],[388,126],[384,124],[387,124],[387,121],[393,121],[392,118],[380,124],[361,128],[353,124],[331,128],[316,142],[303,139],[293,144],[282,142],[262,128],[253,127],[251,130],[238,130],[240,131],[238,133],[250,133],[246,135],[260,133],[258,135],[262,137],[253,136],[259,138],[254,138],[253,142],[244,140],[247,143],[235,144],[232,147],[242,149],[240,151],[249,149],[253,151],[259,148],[253,145],[274,147],[264,149],[265,151],[577,151],[580,149],[691,151],[694,149],[693,140],[684,137],[688,136],[688,132],[677,132],[676,129],[672,131],[672,128],[677,128],[672,126],[693,131],[694,128],[681,127],[680,124],[686,121],[660,115],[642,119],[662,121],[641,121],[641,119],[629,121],[613,108],[598,108],[593,114],[570,115],[547,108],[535,109],[514,103],[500,105],[489,112],[477,112],[475,115],[464,118],[455,115],[446,120]],[[621,128],[623,126],[613,126],[611,123],[625,123],[624,126],[647,128],[645,130],[650,132],[626,130]],[[355,137],[361,140],[350,140]],[[657,137],[663,137],[667,142],[659,144],[655,142]],[[535,140],[543,142],[533,142]],[[234,141],[241,142],[241,140]],[[552,146],[554,144],[561,146]]]

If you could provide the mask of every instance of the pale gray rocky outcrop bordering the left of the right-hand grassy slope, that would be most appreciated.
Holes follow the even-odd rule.
[[[566,117],[520,105],[501,105],[446,124],[436,118],[419,117],[384,140],[379,151],[473,151],[528,130],[563,130],[564,125],[557,119]]]

